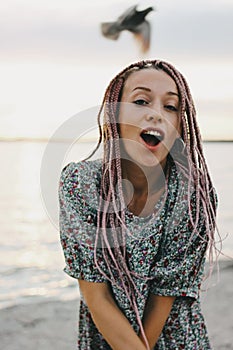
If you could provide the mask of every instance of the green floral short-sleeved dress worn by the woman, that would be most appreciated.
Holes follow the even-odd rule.
[[[59,187],[60,237],[67,274],[75,279],[109,283],[101,248],[97,248],[97,260],[106,275],[94,263],[101,167],[100,160],[93,160],[70,163],[63,169]],[[198,233],[193,234],[191,230],[187,186],[187,180],[173,164],[167,196],[157,203],[155,214],[138,217],[125,209],[126,225],[133,233],[127,239],[127,261],[139,291],[137,306],[140,317],[143,317],[149,293],[176,297],[154,350],[211,349],[199,299],[206,232],[201,209]],[[195,211],[195,200],[192,211]],[[139,332],[130,301],[122,290],[114,285],[111,287],[118,307]],[[93,323],[82,296],[78,349],[111,349]]]

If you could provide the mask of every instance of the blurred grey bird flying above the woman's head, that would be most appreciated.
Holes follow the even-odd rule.
[[[147,14],[153,11],[153,7],[137,11],[137,6],[126,10],[115,22],[101,23],[101,32],[104,37],[117,40],[122,31],[127,30],[133,33],[143,53],[150,48],[150,23],[145,19]]]

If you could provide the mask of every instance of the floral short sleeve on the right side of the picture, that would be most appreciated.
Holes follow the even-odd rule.
[[[187,202],[185,205],[187,207]],[[164,233],[164,240],[151,269],[150,292],[197,299],[203,279],[208,235],[202,210],[195,230],[188,209],[183,209],[180,215],[182,219],[179,220],[170,215],[168,232]]]

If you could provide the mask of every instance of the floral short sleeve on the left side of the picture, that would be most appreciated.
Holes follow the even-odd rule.
[[[64,271],[71,277],[89,282],[105,282],[94,259],[97,197],[97,174],[91,162],[70,163],[62,170],[59,226],[66,262]],[[104,270],[100,248],[97,249],[97,260]]]

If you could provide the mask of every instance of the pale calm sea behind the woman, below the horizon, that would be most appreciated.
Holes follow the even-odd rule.
[[[94,146],[58,142],[55,163],[46,140],[0,142],[0,308],[78,297],[77,282],[63,272],[56,182],[65,164],[87,157]],[[233,142],[205,142],[204,151],[219,198],[220,259],[228,259],[233,257]],[[46,191],[46,179],[53,190]]]

